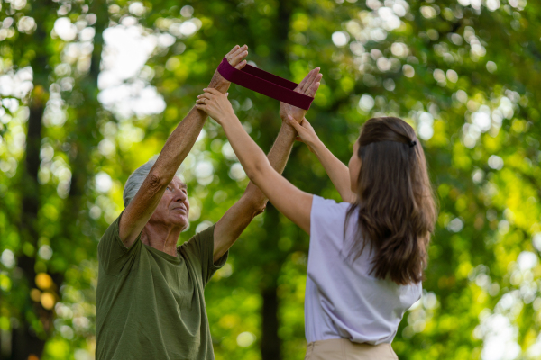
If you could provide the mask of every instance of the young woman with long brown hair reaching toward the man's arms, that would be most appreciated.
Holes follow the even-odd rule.
[[[307,357],[397,359],[399,322],[421,296],[436,205],[415,131],[393,117],[364,123],[349,168],[306,119],[289,123],[316,153],[344,202],[304,193],[279,175],[243,130],[227,94],[205,89],[197,108],[225,130],[246,175],[310,236]]]

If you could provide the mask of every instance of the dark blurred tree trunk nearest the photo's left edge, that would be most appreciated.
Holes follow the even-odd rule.
[[[46,6],[52,6],[47,1],[42,4],[32,4],[31,15],[38,27],[32,35],[23,35],[33,41],[43,44],[31,60],[33,70],[33,91],[29,103],[30,116],[27,123],[26,148],[23,166],[21,166],[21,193],[22,212],[19,222],[22,244],[30,244],[37,247],[40,231],[38,229],[38,211],[40,209],[40,184],[38,172],[40,170],[41,130],[43,112],[49,98],[47,89],[49,87],[49,72],[47,43],[48,31],[45,29]],[[25,40],[23,39],[21,40]],[[35,251],[34,251],[35,253]],[[17,258],[17,266],[23,273],[23,278],[28,286],[28,296],[20,304],[21,316],[13,325],[11,334],[11,354],[8,359],[32,359],[33,356],[41,356],[45,347],[45,338],[52,328],[52,311],[46,310],[40,302],[33,302],[30,298],[30,289],[37,287],[35,284],[35,257],[22,254]],[[38,329],[32,326],[32,322],[41,322]],[[29,357],[30,356],[30,357]]]

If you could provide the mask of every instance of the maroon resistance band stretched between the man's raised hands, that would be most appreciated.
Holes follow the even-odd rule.
[[[226,80],[236,85],[241,85],[257,93],[280,100],[283,103],[289,103],[304,110],[308,110],[312,100],[314,100],[313,97],[294,92],[293,90],[298,84],[248,64],[241,70],[237,70],[229,64],[227,58],[224,58],[218,67],[218,72]]]

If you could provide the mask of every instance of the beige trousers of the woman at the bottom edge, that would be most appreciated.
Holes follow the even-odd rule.
[[[347,338],[314,341],[307,346],[305,360],[398,360],[390,344],[359,344]]]

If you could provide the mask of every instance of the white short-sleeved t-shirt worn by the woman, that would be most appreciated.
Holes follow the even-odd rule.
[[[344,241],[349,206],[314,195],[305,298],[308,343],[331,338],[390,343],[404,312],[421,297],[421,283],[398,285],[369,275],[370,247],[355,261],[345,259],[357,227],[355,211]]]

